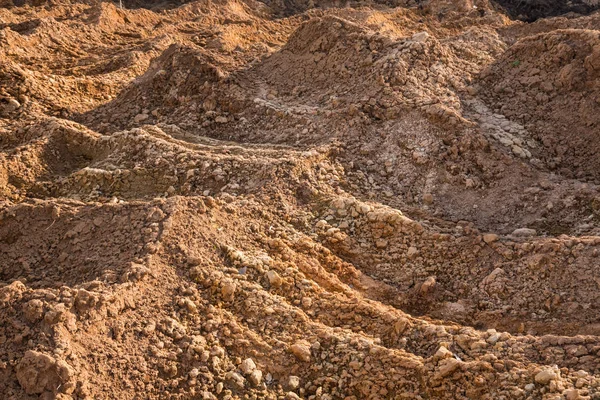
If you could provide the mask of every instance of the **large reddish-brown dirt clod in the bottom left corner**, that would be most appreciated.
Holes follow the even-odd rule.
[[[73,377],[73,370],[64,361],[33,350],[27,350],[16,367],[17,380],[27,394],[55,392]]]

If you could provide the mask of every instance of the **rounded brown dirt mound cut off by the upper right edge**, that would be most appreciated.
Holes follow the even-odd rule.
[[[481,75],[487,101],[526,124],[549,168],[596,183],[599,62],[596,31],[559,30],[519,41]]]

